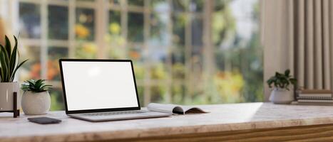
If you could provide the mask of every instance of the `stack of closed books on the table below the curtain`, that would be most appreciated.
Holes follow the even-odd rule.
[[[331,90],[302,89],[297,93],[296,99],[298,104],[333,105],[333,96]]]

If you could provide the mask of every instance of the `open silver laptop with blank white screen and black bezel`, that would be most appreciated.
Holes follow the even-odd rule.
[[[86,121],[170,116],[140,109],[131,60],[60,59],[66,114]]]

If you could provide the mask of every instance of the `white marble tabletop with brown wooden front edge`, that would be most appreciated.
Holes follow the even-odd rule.
[[[230,137],[233,136],[232,134],[240,135],[240,133],[247,133],[244,135],[246,138],[243,135],[238,138],[243,136],[244,140],[249,141],[247,135],[250,135],[250,132],[258,135],[262,130],[274,130],[281,134],[285,130],[289,131],[289,128],[297,128],[292,132],[302,134],[298,132],[299,128],[316,131],[312,126],[324,126],[320,129],[330,131],[330,135],[333,133],[332,106],[244,103],[200,107],[210,113],[98,123],[68,118],[64,111],[52,111],[45,116],[61,119],[62,122],[48,125],[34,124],[27,120],[29,117],[36,116],[21,114],[15,119],[12,118],[12,114],[1,113],[0,141],[119,141],[120,139],[123,141],[171,141],[170,138],[175,138],[172,141],[181,141],[181,138],[189,141],[195,136],[198,138],[208,136],[208,139],[226,136],[223,138],[230,140],[237,139],[237,137]],[[261,134],[265,135],[265,133]],[[211,137],[210,134],[214,136]]]

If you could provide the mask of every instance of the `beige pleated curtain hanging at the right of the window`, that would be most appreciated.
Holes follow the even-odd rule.
[[[264,81],[289,68],[300,87],[331,89],[333,1],[261,0],[260,4]],[[265,84],[266,100],[269,95]]]

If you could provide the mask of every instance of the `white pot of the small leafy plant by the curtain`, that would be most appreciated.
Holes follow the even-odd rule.
[[[274,104],[290,104],[294,101],[294,93],[287,89],[275,88],[270,93],[270,102]]]

